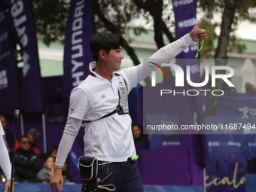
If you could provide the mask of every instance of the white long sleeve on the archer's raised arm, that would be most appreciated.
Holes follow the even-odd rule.
[[[148,59],[145,59],[141,64],[139,64],[139,66],[136,66],[138,83],[147,78],[148,75],[151,75],[152,71],[158,69],[158,66],[161,66],[161,63],[169,62],[170,59],[181,53],[185,47],[188,47],[193,43],[194,41],[187,33],[187,35],[184,35],[180,39],[157,50],[156,53],[154,53]]]

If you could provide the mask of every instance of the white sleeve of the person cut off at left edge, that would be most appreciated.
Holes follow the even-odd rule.
[[[5,146],[3,136],[0,136],[0,166],[5,172],[5,176],[8,180],[11,179],[11,162],[9,159],[8,150]]]

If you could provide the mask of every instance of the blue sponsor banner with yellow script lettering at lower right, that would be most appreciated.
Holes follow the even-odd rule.
[[[206,105],[208,97],[203,97]],[[205,107],[204,107],[205,108]],[[228,93],[221,96],[215,117],[207,124],[221,124],[223,134],[207,136],[210,163],[206,166],[207,191],[216,190],[216,164],[219,160],[219,190],[245,192],[247,158],[256,157],[255,94]],[[246,182],[245,182],[246,180]]]

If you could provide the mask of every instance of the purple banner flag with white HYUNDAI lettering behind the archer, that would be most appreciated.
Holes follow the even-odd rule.
[[[90,74],[90,38],[93,35],[91,1],[71,1],[64,49],[64,86],[69,99],[72,89]]]

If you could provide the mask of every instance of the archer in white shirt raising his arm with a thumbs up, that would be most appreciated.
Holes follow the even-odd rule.
[[[114,181],[127,158],[136,154],[127,95],[154,70],[147,67],[154,66],[150,61],[157,62],[159,59],[158,65],[169,62],[194,41],[206,38],[205,30],[199,27],[200,21],[187,35],[160,48],[139,66],[121,70],[118,75],[114,75],[114,72],[120,69],[123,59],[123,38],[107,32],[93,35],[90,50],[95,62],[90,62],[90,75],[72,90],[70,96],[69,114],[50,179],[53,191],[59,192],[59,188],[63,187],[62,167],[82,121],[87,122],[84,129],[84,155],[96,157],[107,165],[99,166],[99,180],[108,175],[106,170],[113,172],[102,184]],[[115,191],[144,191],[136,163],[117,184]]]

